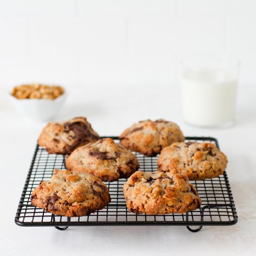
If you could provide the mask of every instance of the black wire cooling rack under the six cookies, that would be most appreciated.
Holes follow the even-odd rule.
[[[111,138],[118,141],[118,137]],[[218,141],[211,137],[186,137],[186,141],[212,142],[219,148]],[[139,153],[135,155],[140,162],[141,171],[157,170],[157,156],[147,157]],[[54,226],[60,230],[67,229],[68,226],[182,225],[187,226],[192,232],[197,232],[204,225],[233,225],[238,220],[226,172],[218,178],[190,181],[201,197],[202,205],[200,209],[186,214],[150,216],[129,213],[122,192],[123,184],[127,179],[120,179],[117,182],[105,182],[111,195],[111,202],[104,209],[82,217],[54,216],[52,213],[34,207],[30,201],[33,189],[42,180],[49,180],[54,168],[65,169],[65,156],[48,154],[45,148],[37,145],[15,216],[17,225]],[[60,226],[64,227],[60,228]],[[191,229],[189,226],[199,226],[199,228]]]

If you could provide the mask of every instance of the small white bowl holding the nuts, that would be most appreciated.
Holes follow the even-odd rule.
[[[64,92],[61,96],[54,100],[47,99],[22,99],[15,98],[12,94],[9,94],[14,107],[23,115],[37,120],[37,121],[49,121],[63,106],[67,93]]]

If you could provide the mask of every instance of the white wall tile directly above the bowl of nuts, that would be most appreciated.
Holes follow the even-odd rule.
[[[0,54],[0,82],[5,88],[26,82],[79,84],[75,54]]]

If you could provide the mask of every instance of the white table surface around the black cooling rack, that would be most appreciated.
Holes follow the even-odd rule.
[[[84,115],[100,135],[120,135],[132,123],[165,118],[187,136],[213,136],[228,156],[227,173],[238,223],[204,226],[19,227],[14,216],[45,122],[30,121],[13,109],[0,90],[0,255],[256,255],[256,87],[240,87],[236,124],[206,129],[182,121],[180,94],[169,87],[89,87],[68,95],[56,120]]]

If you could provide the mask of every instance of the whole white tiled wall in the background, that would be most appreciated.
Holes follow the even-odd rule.
[[[227,53],[256,83],[255,0],[0,0],[0,87],[177,85],[182,56]]]

